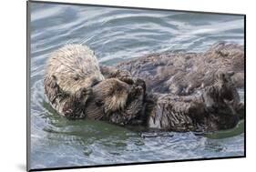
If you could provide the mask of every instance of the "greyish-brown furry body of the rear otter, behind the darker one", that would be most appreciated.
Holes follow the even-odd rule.
[[[236,87],[244,85],[244,50],[236,44],[218,43],[205,53],[163,52],[140,56],[117,65],[133,77],[143,78],[148,91],[191,95],[214,83],[214,74],[233,72]]]

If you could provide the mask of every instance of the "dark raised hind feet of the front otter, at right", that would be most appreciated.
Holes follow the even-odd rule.
[[[233,74],[233,72],[217,72],[214,76],[214,84],[204,87],[203,98],[209,112],[240,116],[243,104],[230,78]]]

